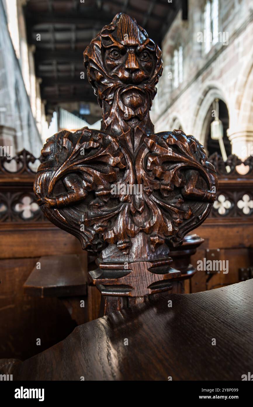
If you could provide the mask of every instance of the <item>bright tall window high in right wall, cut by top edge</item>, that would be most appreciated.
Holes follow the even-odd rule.
[[[218,42],[219,3],[218,0],[207,0],[204,11],[204,45],[205,53],[211,49],[211,44]]]

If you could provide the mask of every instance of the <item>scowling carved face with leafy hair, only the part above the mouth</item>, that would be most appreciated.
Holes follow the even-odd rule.
[[[145,89],[149,82],[154,88],[162,74],[161,55],[145,30],[128,15],[120,14],[86,48],[84,63],[89,81],[104,100],[102,92],[108,83],[114,88],[130,84]]]

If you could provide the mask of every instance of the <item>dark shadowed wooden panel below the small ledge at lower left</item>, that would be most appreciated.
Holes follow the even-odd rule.
[[[76,326],[58,298],[24,295],[24,282],[38,260],[0,260],[0,358],[32,357],[66,338]]]

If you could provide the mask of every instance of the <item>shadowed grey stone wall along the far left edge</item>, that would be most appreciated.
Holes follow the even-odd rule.
[[[30,97],[35,98],[32,93]],[[22,59],[17,59],[9,33],[6,2],[0,0],[0,146],[12,146],[13,154],[25,148],[39,156],[42,142],[30,97],[22,76]]]

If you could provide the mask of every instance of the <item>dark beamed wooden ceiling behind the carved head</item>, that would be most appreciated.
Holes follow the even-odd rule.
[[[59,102],[96,101],[87,79],[80,79],[85,71],[82,53],[115,14],[135,18],[160,45],[181,7],[187,18],[187,0],[28,0],[28,43],[36,47],[36,75],[41,78],[46,110],[52,111]]]

